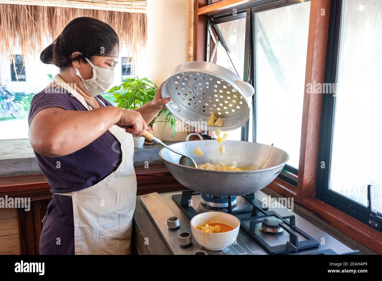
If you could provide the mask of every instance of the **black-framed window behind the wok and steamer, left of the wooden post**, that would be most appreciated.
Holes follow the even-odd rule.
[[[255,88],[251,118],[229,139],[256,141],[288,152],[290,160],[280,178],[296,186],[310,2],[243,6],[235,15],[228,11],[209,18],[213,28],[207,57],[242,79],[249,77]]]

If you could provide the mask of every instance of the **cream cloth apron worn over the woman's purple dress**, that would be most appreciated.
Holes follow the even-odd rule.
[[[87,110],[92,109],[83,96],[58,75],[54,82],[70,92]],[[122,161],[117,170],[94,186],[58,193],[72,197],[76,255],[131,254],[132,219],[137,192],[133,136],[117,125],[111,126],[108,131],[121,144]]]

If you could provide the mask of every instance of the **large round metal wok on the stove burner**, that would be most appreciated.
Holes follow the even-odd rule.
[[[160,150],[160,157],[177,181],[193,191],[214,196],[239,196],[258,191],[270,184],[289,160],[284,150],[257,142],[226,140],[224,155],[219,152],[217,140],[193,140],[169,146],[190,155],[197,164],[233,166],[236,161],[238,168],[250,170],[213,171],[191,168],[179,165],[180,155],[166,148]],[[194,155],[197,146],[203,151],[203,156]]]

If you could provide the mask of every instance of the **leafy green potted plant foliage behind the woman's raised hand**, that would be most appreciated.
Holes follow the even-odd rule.
[[[157,85],[147,78],[139,79],[138,76],[125,79],[119,86],[114,86],[108,90],[107,94],[113,93],[118,107],[133,110],[142,105],[151,102],[157,92]],[[159,121],[158,118],[165,116],[165,121]],[[164,122],[166,127],[170,123],[170,129],[173,130],[172,136],[175,136],[175,116],[167,109],[163,108],[158,112],[154,119],[149,123],[152,126],[156,122]]]

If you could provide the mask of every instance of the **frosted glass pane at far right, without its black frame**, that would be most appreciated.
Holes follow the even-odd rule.
[[[382,212],[382,3],[345,1],[329,188]]]

